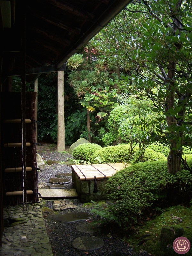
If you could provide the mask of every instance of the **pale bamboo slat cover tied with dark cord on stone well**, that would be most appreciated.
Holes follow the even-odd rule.
[[[122,163],[71,165],[80,180],[109,178],[124,168]]]

